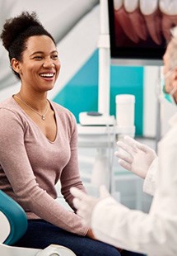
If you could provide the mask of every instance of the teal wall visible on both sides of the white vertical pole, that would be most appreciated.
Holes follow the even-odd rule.
[[[130,93],[136,98],[135,126],[136,135],[142,135],[143,113],[143,68],[110,67],[110,114],[115,115],[115,96]],[[67,107],[76,116],[82,111],[98,110],[98,50],[91,56],[82,69],[69,81],[54,102]]]

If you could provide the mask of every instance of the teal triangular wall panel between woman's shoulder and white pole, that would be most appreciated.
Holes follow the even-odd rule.
[[[54,97],[54,102],[67,107],[76,116],[82,111],[98,109],[98,51]]]

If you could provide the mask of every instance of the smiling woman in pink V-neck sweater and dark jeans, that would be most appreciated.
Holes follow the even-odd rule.
[[[24,208],[29,224],[15,245],[61,244],[77,255],[119,256],[55,200],[58,180],[73,210],[70,187],[86,191],[78,173],[76,120],[47,99],[60,71],[54,38],[35,12],[22,12],[6,21],[1,39],[21,81],[20,91],[0,104],[0,189]]]

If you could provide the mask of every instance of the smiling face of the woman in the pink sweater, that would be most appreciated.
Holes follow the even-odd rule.
[[[30,36],[19,62],[21,84],[37,92],[54,88],[60,62],[54,41],[49,36]]]

